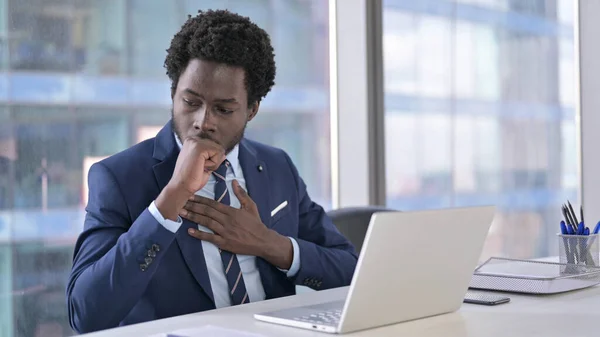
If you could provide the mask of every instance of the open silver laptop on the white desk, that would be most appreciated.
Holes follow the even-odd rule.
[[[345,300],[258,313],[264,322],[343,334],[458,310],[495,207],[381,212]]]

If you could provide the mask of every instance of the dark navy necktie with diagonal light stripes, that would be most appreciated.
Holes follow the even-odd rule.
[[[230,204],[229,191],[227,190],[227,182],[225,180],[228,167],[229,161],[225,160],[221,166],[219,166],[219,168],[213,172],[213,175],[216,178],[215,200],[225,205]],[[221,261],[223,262],[227,284],[229,284],[231,304],[238,305],[250,302],[250,299],[248,298],[248,292],[246,291],[246,284],[244,283],[244,277],[242,276],[242,269],[240,268],[240,263],[237,260],[237,256],[231,252],[221,249],[219,249],[219,252],[221,253]]]

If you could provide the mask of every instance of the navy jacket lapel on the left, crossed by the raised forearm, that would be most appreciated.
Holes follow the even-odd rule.
[[[154,170],[154,176],[160,191],[162,191],[169,180],[171,180],[178,155],[179,148],[175,142],[175,138],[171,129],[171,123],[169,122],[164,128],[162,128],[154,140],[153,157],[160,160],[160,162],[154,165],[152,169]],[[179,245],[185,263],[192,272],[192,275],[194,275],[194,278],[198,284],[200,284],[202,290],[204,290],[214,305],[215,299],[210,286],[208,271],[206,269],[206,261],[204,259],[202,243],[187,234],[188,228],[191,227],[196,228],[197,226],[191,221],[184,219],[181,228],[179,228],[175,235],[175,239]],[[174,275],[174,277],[177,276]]]

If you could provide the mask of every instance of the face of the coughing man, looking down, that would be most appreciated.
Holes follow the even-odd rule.
[[[190,60],[173,95],[172,123],[179,139],[210,139],[229,153],[258,111],[258,103],[248,106],[244,77],[239,67]]]

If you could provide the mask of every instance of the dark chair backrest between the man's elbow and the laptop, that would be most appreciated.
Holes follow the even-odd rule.
[[[371,216],[375,212],[394,212],[383,206],[346,207],[327,212],[333,224],[360,253]]]

